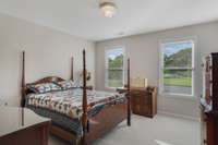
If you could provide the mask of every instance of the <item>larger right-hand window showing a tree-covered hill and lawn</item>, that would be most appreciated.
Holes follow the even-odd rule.
[[[160,93],[193,96],[194,41],[161,44]]]

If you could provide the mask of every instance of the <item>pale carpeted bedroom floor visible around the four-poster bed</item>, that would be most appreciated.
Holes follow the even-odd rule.
[[[94,145],[199,145],[199,122],[158,114],[154,119],[133,116],[132,126],[125,121]],[[49,145],[68,145],[50,136]]]

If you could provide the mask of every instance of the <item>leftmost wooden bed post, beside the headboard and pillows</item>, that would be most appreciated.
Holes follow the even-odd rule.
[[[25,106],[25,51],[22,52],[21,107]]]

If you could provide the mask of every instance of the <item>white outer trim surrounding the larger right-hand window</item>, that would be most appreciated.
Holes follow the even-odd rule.
[[[177,43],[184,43],[184,41],[193,41],[192,48],[192,94],[175,94],[175,93],[164,93],[164,55],[162,55],[162,46],[164,44],[177,44]],[[196,52],[196,36],[180,38],[180,39],[167,39],[159,41],[159,95],[165,97],[174,97],[174,98],[195,98],[195,52]]]

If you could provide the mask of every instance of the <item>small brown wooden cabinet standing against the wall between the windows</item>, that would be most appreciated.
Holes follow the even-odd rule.
[[[157,87],[131,88],[132,111],[153,118],[157,114]]]

